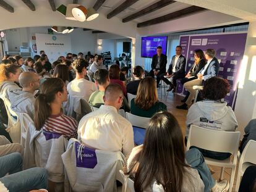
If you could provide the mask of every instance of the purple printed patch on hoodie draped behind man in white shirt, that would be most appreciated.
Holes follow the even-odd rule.
[[[77,167],[93,169],[97,162],[95,149],[86,148],[81,146],[80,143],[75,142],[75,157],[77,159]]]

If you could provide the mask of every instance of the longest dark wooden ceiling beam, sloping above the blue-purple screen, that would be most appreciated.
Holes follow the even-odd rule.
[[[163,15],[163,16],[157,17],[155,19],[151,19],[151,20],[147,20],[147,21],[142,22],[142,23],[138,23],[137,27],[138,28],[147,27],[149,25],[155,25],[155,24],[158,24],[158,23],[167,22],[169,20],[178,19],[180,17],[184,17],[184,16],[187,16],[187,15],[196,14],[197,12],[201,12],[203,10],[207,10],[207,9],[205,9],[203,7],[190,6],[190,7],[187,7],[186,9],[181,9],[181,10],[178,10],[178,11],[173,12],[171,14]]]

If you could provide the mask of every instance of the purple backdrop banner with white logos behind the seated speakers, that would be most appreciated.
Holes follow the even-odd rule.
[[[186,73],[194,64],[195,49],[202,49],[204,52],[206,49],[215,49],[215,57],[220,62],[218,76],[227,79],[231,85],[230,93],[226,96],[225,101],[233,109],[236,104],[239,69],[241,69],[242,57],[244,56],[246,38],[247,33],[215,33],[180,37],[181,44],[182,41],[189,39],[189,46],[186,48]]]

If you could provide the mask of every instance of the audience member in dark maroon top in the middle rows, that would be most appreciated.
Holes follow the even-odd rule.
[[[120,68],[118,65],[111,65],[109,68],[109,78],[110,83],[112,84],[119,84],[122,88],[122,92],[124,96],[127,96],[126,87],[124,86],[124,82],[120,80]]]

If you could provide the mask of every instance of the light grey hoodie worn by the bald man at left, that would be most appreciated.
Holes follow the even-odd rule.
[[[14,90],[9,91],[9,99],[11,102],[11,109],[15,112],[26,113],[31,119],[34,119],[35,114],[35,94]]]

